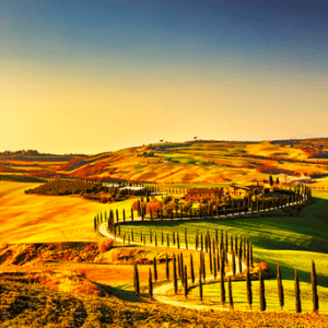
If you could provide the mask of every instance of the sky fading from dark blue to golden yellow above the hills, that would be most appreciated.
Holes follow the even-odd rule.
[[[328,0],[1,0],[0,151],[328,137]]]

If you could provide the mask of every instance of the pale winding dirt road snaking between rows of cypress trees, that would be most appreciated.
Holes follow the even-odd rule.
[[[102,223],[98,226],[99,229],[99,233],[108,238],[112,239],[116,239],[117,242],[124,242],[122,238],[118,237],[118,236],[114,236],[113,234],[108,233],[107,231],[107,223]],[[153,244],[142,244],[142,243],[138,243],[138,242],[130,242],[130,244],[132,245],[142,245],[142,246],[149,246],[149,247],[155,247]],[[166,248],[165,245],[157,245],[157,247],[163,247]],[[177,248],[177,246],[169,246],[172,248]],[[180,249],[186,249],[185,247],[180,246]],[[195,249],[196,247],[188,247],[188,249]],[[230,254],[227,254],[227,259],[231,261],[232,260],[232,256]],[[236,258],[236,267],[238,268],[238,259]],[[246,266],[242,262],[242,269],[246,269]],[[226,272],[225,276],[232,276],[233,272]],[[209,280],[208,280],[209,279]],[[214,277],[207,277],[207,281],[214,281]],[[188,285],[192,285],[191,279],[188,280]],[[172,300],[169,296],[167,296],[168,292],[173,290],[173,283],[167,283],[167,284],[163,284],[161,286],[154,288],[153,290],[153,298],[157,302],[164,303],[164,304],[169,304],[169,305],[174,305],[174,306],[180,306],[180,307],[187,307],[187,308],[191,308],[191,309],[199,309],[199,311],[229,311],[229,308],[226,307],[221,307],[221,306],[209,306],[209,305],[200,305],[200,304],[190,304],[188,302],[183,302],[183,301],[175,301]]]

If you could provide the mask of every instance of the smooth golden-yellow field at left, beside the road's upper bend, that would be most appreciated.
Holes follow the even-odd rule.
[[[113,206],[130,209],[131,200],[102,204],[78,196],[25,195],[37,184],[0,183],[1,243],[98,241],[93,218]]]

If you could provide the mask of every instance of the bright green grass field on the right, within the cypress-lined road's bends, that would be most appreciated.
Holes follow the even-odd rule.
[[[183,246],[185,227],[188,232],[188,245],[190,246],[195,246],[195,234],[197,230],[199,233],[202,232],[203,234],[207,232],[207,230],[209,230],[212,236],[214,235],[215,227],[219,231],[221,229],[223,231],[227,231],[229,236],[242,234],[243,236],[249,238],[249,241],[253,243],[255,260],[268,262],[271,271],[274,274],[277,262],[280,262],[282,279],[286,290],[286,308],[291,311],[294,309],[293,279],[295,269],[297,269],[298,278],[302,282],[301,286],[304,300],[304,311],[311,311],[309,272],[311,260],[313,259],[316,262],[320,306],[324,312],[328,313],[328,192],[315,192],[314,196],[316,198],[316,202],[305,207],[297,214],[297,216],[251,218],[220,221],[202,220],[191,222],[164,221],[156,223],[149,222],[147,224],[134,223],[134,239],[139,241],[138,238],[140,230],[149,235],[150,229],[153,233],[157,233],[159,237],[163,231],[164,235],[169,234],[171,238],[173,231],[179,231],[180,245]],[[122,225],[121,234],[124,232],[129,234],[131,227],[131,225]],[[166,237],[164,238],[164,243],[165,241]],[[236,288],[237,284],[239,284],[241,288]],[[257,284],[258,282],[254,282],[254,293],[256,295],[255,301],[258,300],[258,292],[256,290]],[[246,300],[246,294],[243,290],[244,284],[242,282],[234,282],[234,295],[236,300],[239,300],[241,303],[244,303]],[[211,293],[214,295],[215,289],[218,288],[214,284],[208,285],[206,286],[204,293],[209,291],[209,297],[211,298]],[[268,297],[271,297],[269,295],[271,294],[271,291],[272,293],[277,294],[276,279],[266,281],[266,290]],[[198,295],[197,291],[194,291],[194,293]],[[277,295],[272,297],[277,298]],[[220,300],[218,298],[218,302]],[[243,307],[244,305],[241,306]],[[270,306],[274,308],[276,305],[272,303],[272,306]],[[257,305],[255,303],[255,307]]]

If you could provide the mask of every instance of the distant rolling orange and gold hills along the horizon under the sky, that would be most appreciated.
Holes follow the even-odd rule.
[[[28,164],[34,176],[159,184],[249,184],[274,175],[281,181],[302,179],[326,185],[328,139],[198,140],[153,143],[92,156],[1,154],[0,161],[7,169]]]

